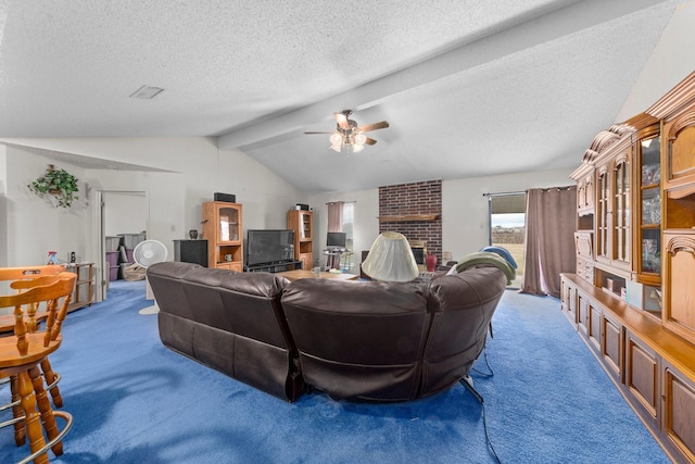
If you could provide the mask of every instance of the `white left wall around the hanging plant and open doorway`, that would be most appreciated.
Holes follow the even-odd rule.
[[[283,228],[287,211],[306,195],[237,150],[219,151],[214,140],[190,138],[91,138],[91,139],[13,139],[2,147],[0,167],[7,178],[7,193],[0,198],[0,230],[7,229],[7,242],[0,240],[2,265],[43,264],[47,252],[59,252],[67,261],[75,251],[78,261],[99,267],[98,205],[96,191],[137,191],[147,197],[148,238],[164,242],[174,258],[174,239],[188,238],[188,230],[201,230],[201,203],[216,191],[236,193],[243,204],[243,227]],[[73,153],[103,160],[146,165],[163,170],[115,171],[85,170],[55,162],[79,179],[79,201],[70,210],[56,210],[31,193],[26,185],[41,175],[49,163],[35,149]],[[2,180],[0,180],[0,185]],[[97,273],[99,275],[99,273]]]

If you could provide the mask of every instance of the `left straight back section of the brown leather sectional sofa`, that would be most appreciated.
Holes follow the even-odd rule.
[[[304,383],[280,306],[287,279],[170,262],[150,266],[148,277],[166,347],[278,398],[299,398]]]

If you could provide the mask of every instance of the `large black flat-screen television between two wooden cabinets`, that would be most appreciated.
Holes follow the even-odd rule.
[[[247,266],[294,261],[294,230],[251,229],[247,234]]]

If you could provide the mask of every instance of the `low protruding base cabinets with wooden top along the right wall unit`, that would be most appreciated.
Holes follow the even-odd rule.
[[[597,359],[623,398],[674,463],[695,462],[695,346],[573,274],[560,279],[563,311],[572,296],[580,301],[586,331],[577,328],[593,350],[598,321]]]

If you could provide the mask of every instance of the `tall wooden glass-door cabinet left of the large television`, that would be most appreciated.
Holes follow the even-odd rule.
[[[243,271],[242,206],[239,203],[203,203],[203,238],[207,240],[207,266]]]

